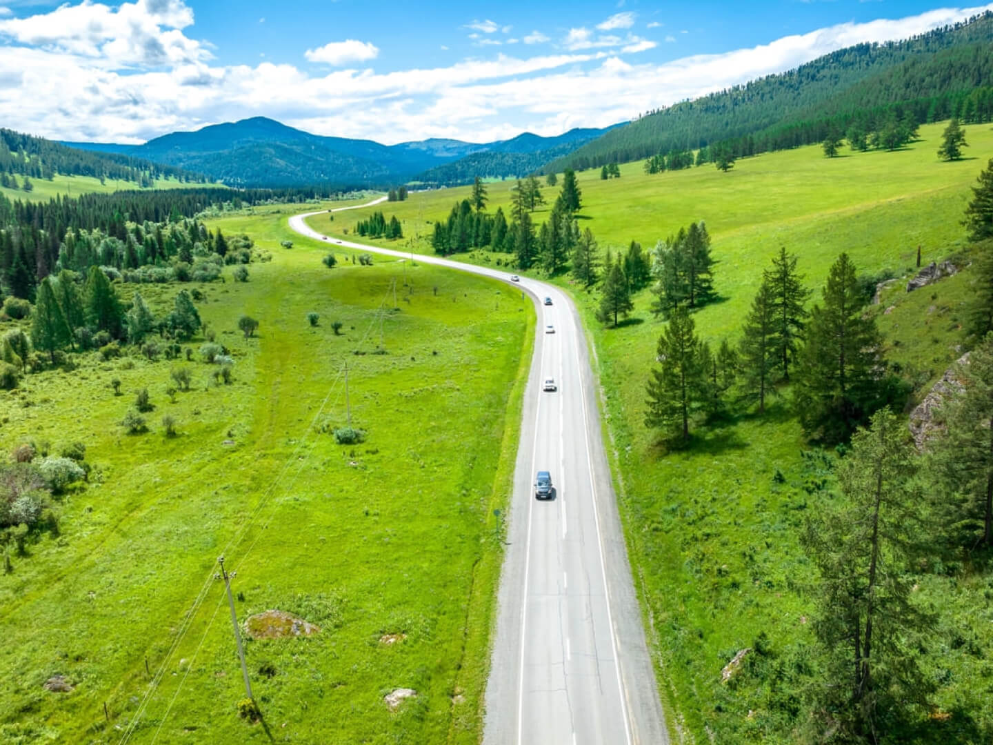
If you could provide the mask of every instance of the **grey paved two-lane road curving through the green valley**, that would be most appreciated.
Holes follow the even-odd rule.
[[[304,222],[318,214],[290,218],[290,227],[331,246],[410,256],[324,236]],[[417,261],[510,281],[488,267],[435,256]],[[582,325],[554,285],[526,277],[516,284],[534,300],[538,337],[524,394],[484,743],[668,743]],[[554,378],[554,392],[541,390],[546,377]],[[552,474],[550,500],[534,499],[538,470]]]

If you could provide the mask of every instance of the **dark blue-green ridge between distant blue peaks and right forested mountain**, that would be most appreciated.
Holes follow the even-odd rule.
[[[477,176],[498,179],[527,176],[613,128],[570,129],[558,137],[541,137],[524,132],[452,163],[435,166],[417,176],[416,180],[426,184],[458,186],[472,183]]]

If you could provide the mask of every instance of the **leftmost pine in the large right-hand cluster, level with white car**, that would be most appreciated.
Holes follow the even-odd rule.
[[[693,319],[677,309],[658,338],[655,361],[647,383],[644,425],[662,430],[666,439],[689,440],[689,421],[706,402],[706,371]]]

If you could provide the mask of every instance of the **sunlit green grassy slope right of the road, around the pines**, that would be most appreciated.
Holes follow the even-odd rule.
[[[650,247],[680,225],[705,220],[719,261],[715,284],[722,301],[695,319],[712,343],[723,337],[734,341],[761,272],[780,245],[800,256],[815,299],[843,250],[864,272],[899,274],[914,265],[919,244],[924,261],[962,248],[959,221],[971,195],[968,187],[993,156],[993,131],[968,127],[970,159],[939,163],[935,150],[943,126],[922,127],[921,141],[894,153],[846,150],[848,157],[829,160],[819,148],[807,147],[739,161],[728,174],[706,167],[651,177],[634,163],[622,167],[620,180],[608,182],[591,171],[580,174],[581,223],[591,227],[601,246],[637,239]],[[491,210],[497,205],[506,210],[507,186],[491,189]],[[549,201],[556,192],[546,189]],[[395,213],[405,221],[405,234],[429,235],[427,221],[444,218],[453,202],[467,195],[467,189],[414,194],[383,210],[387,218]],[[362,217],[356,211],[349,219]],[[328,229],[320,220],[314,223]],[[336,229],[347,226],[336,219]],[[430,250],[424,238],[393,242]],[[482,251],[465,258],[497,260]],[[901,285],[892,293],[896,309],[881,316],[891,357],[911,372],[919,394],[958,356],[957,313],[969,281],[965,273],[910,295]],[[636,298],[634,323],[618,330],[601,328],[593,317],[595,298],[578,294],[597,349],[622,518],[670,720],[701,742],[707,728],[729,741],[768,739],[779,714],[765,706],[761,681],[748,679],[729,690],[720,683],[720,671],[762,632],[776,654],[810,642],[806,621],[812,599],[802,587],[811,571],[798,533],[805,511],[824,499],[813,486],[820,475],[800,458],[803,442],[784,397],[764,418],[746,416],[700,430],[692,450],[663,455],[641,423],[643,383],[662,329],[647,311],[647,293]],[[894,300],[888,297],[886,304]],[[773,479],[777,470],[781,483]],[[949,710],[971,710],[990,726],[993,712],[979,703],[989,685],[976,682],[986,674],[983,664],[946,644],[964,634],[979,639],[980,649],[993,647],[990,601],[984,595],[989,581],[959,579],[958,590],[952,590],[953,581],[927,577],[922,586],[946,607],[982,610],[970,620],[945,618],[937,641],[942,652],[936,664],[942,668],[934,671],[941,678],[935,700]],[[959,622],[961,628],[950,628]],[[747,716],[750,710],[755,713]]]

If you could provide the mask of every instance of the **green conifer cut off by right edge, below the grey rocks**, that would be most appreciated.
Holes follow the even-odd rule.
[[[942,406],[947,427],[933,442],[937,509],[952,539],[993,546],[993,334],[958,366],[962,391]]]

